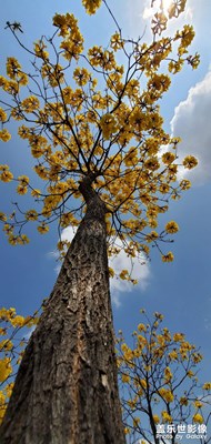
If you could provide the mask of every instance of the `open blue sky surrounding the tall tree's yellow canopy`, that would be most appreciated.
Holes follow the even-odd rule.
[[[125,36],[150,36],[150,0],[110,1]],[[123,8],[122,8],[123,3]],[[89,37],[88,43],[107,41],[111,31],[108,14],[101,9],[93,18],[86,17],[80,1],[73,0],[7,0],[1,6],[0,38],[1,67],[7,56],[17,56],[27,62],[26,54],[14,42],[6,21],[20,21],[24,37],[30,44],[41,34],[52,33],[51,17],[54,12],[74,12],[82,31]],[[201,64],[197,71],[184,69],[172,81],[170,93],[162,102],[165,125],[172,133],[182,137],[181,155],[193,153],[200,163],[192,176],[193,186],[179,202],[172,202],[170,211],[163,216],[163,223],[173,219],[180,231],[174,236],[172,250],[173,263],[163,264],[157,251],[151,262],[140,268],[140,284],[125,291],[111,283],[113,294],[113,315],[115,329],[122,329],[129,337],[140,322],[139,310],[147,309],[150,315],[154,311],[164,314],[165,325],[172,331],[187,334],[190,342],[201,346],[204,360],[201,377],[210,380],[210,336],[211,336],[211,2],[210,0],[188,0],[187,12],[172,21],[170,31],[181,22],[191,22],[197,31],[192,46],[201,54]],[[3,68],[1,68],[3,70]],[[18,174],[30,175],[31,160],[23,141],[16,138],[0,144],[0,163],[8,163]],[[182,174],[182,172],[181,172]],[[23,198],[24,199],[24,198]],[[1,185],[0,210],[9,208],[13,200],[12,186]],[[28,203],[28,202],[27,202]],[[31,205],[32,206],[32,205]],[[41,236],[31,225],[31,242],[27,246],[12,248],[1,235],[1,294],[0,304],[16,306],[20,314],[32,313],[52,290],[57,279],[57,262],[51,254],[57,244],[57,229]]]

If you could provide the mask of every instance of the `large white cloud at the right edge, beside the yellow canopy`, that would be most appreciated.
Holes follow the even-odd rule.
[[[173,135],[182,138],[180,143],[181,159],[193,154],[199,161],[198,167],[187,172],[181,169],[181,176],[190,178],[198,184],[211,180],[211,72],[189,90],[188,97],[174,110],[171,121]]]

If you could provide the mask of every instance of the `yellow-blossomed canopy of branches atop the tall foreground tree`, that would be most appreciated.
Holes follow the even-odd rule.
[[[179,230],[174,221],[157,229],[160,213],[169,200],[177,200],[190,181],[177,181],[179,137],[163,130],[160,100],[171,84],[170,74],[184,63],[193,69],[199,54],[190,56],[194,37],[185,24],[173,37],[163,37],[168,18],[162,10],[152,19],[152,41],[127,39],[105,1],[83,1],[92,14],[101,6],[114,20],[115,32],[107,48],[87,49],[77,18],[56,13],[56,31],[42,37],[32,48],[16,23],[7,23],[31,58],[27,72],[14,57],[7,61],[7,77],[0,77],[2,99],[0,138],[10,140],[9,123],[18,122],[18,135],[27,141],[34,160],[33,170],[41,179],[40,189],[27,175],[13,176],[9,165],[0,165],[2,182],[17,184],[17,193],[31,193],[33,206],[22,210],[20,200],[9,219],[0,219],[9,242],[26,244],[28,221],[34,221],[43,234],[58,220],[59,229],[77,226],[84,212],[79,184],[89,179],[107,204],[107,229],[111,239],[109,254],[118,254],[117,238],[127,254],[148,255],[155,245],[162,260],[173,260],[163,242]],[[153,2],[152,2],[153,3]],[[185,1],[169,9],[169,18],[184,10]],[[192,169],[191,154],[183,165]],[[59,242],[59,250],[63,243]],[[112,273],[112,271],[111,271]],[[122,271],[120,278],[130,279]]]

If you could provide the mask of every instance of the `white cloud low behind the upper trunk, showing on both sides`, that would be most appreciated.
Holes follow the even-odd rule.
[[[64,229],[61,233],[62,241],[72,241],[74,236],[74,230],[71,226]],[[135,289],[145,290],[150,279],[150,265],[145,258],[133,258],[131,263],[131,259],[127,255],[127,253],[122,250],[122,242],[120,240],[115,241],[115,245],[121,249],[120,253],[117,256],[112,256],[109,259],[109,266],[111,266],[115,274],[119,274],[121,270],[132,270],[131,278],[138,280],[139,283],[135,285]],[[58,256],[56,252],[52,252],[51,255],[54,258]],[[56,272],[59,273],[61,264],[58,264],[56,268]],[[110,279],[110,289],[111,289],[111,299],[115,306],[120,306],[120,296],[122,293],[129,293],[134,290],[134,285],[131,282],[122,281],[118,278]]]

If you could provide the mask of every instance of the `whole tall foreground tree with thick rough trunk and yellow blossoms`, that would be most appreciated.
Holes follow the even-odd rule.
[[[101,1],[82,3],[94,13]],[[10,139],[6,127],[11,119],[21,122],[19,137],[31,148],[43,186],[38,190],[24,174],[14,178],[8,165],[0,165],[2,182],[17,183],[20,195],[30,192],[34,198],[32,209],[17,202],[9,219],[1,213],[3,231],[16,245],[28,243],[28,221],[41,234],[56,221],[59,230],[79,228],[67,253],[59,242],[66,259],[21,362],[1,426],[2,443],[124,442],[108,254],[120,252],[115,241],[121,239],[131,260],[148,256],[152,245],[163,262],[172,261],[172,252],[161,245],[179,226],[169,221],[158,232],[158,216],[171,198],[190,188],[187,180],[177,182],[179,139],[164,132],[159,101],[171,83],[167,71],[177,73],[185,62],[197,68],[199,56],[188,53],[194,31],[184,26],[173,37],[161,37],[168,20],[161,1],[152,42],[124,39],[102,3],[115,26],[107,49],[84,51],[70,13],[57,13],[52,38],[42,37],[33,49],[20,40],[14,23],[7,23],[32,58],[33,71],[8,58],[7,77],[0,77],[0,138]],[[184,6],[175,1],[169,18]],[[197,160],[188,155],[183,165],[191,169]],[[131,271],[122,270],[120,278],[132,280]]]

